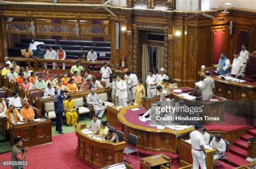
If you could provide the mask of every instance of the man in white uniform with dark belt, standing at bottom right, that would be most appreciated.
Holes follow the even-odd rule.
[[[192,158],[193,168],[206,169],[205,159],[207,158],[204,137],[201,133],[203,125],[198,123],[195,125],[195,130],[190,133],[191,145],[192,145]]]

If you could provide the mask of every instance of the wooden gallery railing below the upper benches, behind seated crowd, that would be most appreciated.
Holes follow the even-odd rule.
[[[52,63],[55,62],[56,63],[56,68],[61,70],[62,68],[60,68],[59,66],[62,65],[62,63],[65,63],[66,65],[75,65],[76,61],[79,61],[81,66],[84,66],[85,69],[89,69],[89,66],[95,66],[95,65],[100,65],[102,66],[104,61],[87,61],[87,60],[49,60],[49,59],[35,59],[35,58],[14,58],[14,57],[10,57],[9,58],[10,61],[17,61],[17,62],[26,62],[26,64],[28,64],[29,68],[33,68],[34,70],[38,70],[38,69],[44,69],[44,64],[47,62]],[[111,64],[109,61],[105,61],[107,63],[108,66],[111,67]]]

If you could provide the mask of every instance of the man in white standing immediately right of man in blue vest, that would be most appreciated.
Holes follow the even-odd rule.
[[[231,69],[231,75],[235,78],[240,78],[242,75],[242,65],[243,61],[242,58],[239,57],[238,51],[233,52],[233,63],[232,63],[232,69]]]

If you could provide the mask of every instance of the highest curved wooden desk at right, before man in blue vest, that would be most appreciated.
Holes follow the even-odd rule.
[[[230,100],[238,101],[253,101],[256,100],[256,82],[232,82],[224,79],[219,79],[217,75],[212,74],[215,71],[214,67],[207,67],[205,69],[211,73],[211,78],[214,80],[214,94],[228,98]],[[198,74],[203,78],[203,72]]]

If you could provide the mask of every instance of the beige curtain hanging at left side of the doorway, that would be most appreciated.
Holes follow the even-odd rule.
[[[149,71],[149,51],[147,51],[147,45],[142,45],[142,80],[144,86],[146,86],[147,71]]]

